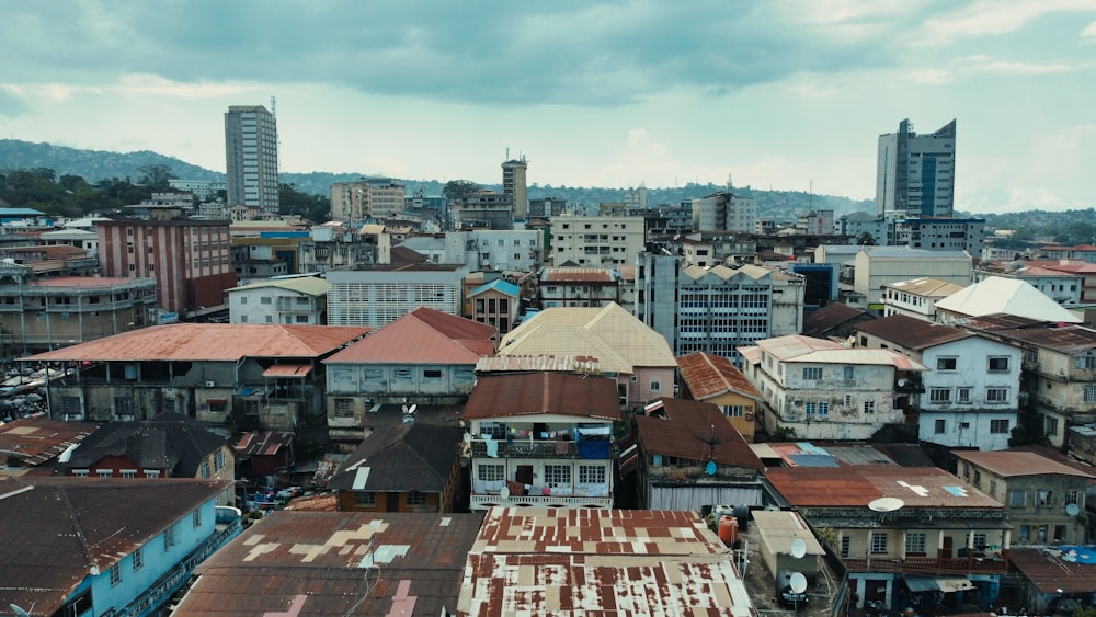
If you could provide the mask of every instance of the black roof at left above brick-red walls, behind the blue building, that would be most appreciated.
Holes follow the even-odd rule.
[[[124,456],[146,469],[194,478],[207,456],[228,443],[199,421],[164,412],[151,420],[115,421],[85,437],[61,467],[91,468],[106,456]]]

